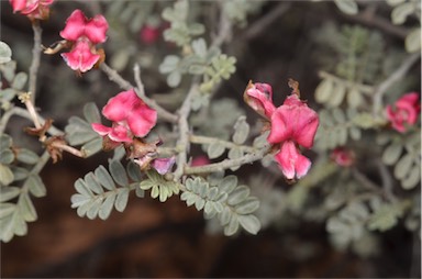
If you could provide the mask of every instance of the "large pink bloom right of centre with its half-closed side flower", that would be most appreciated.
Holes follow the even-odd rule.
[[[244,100],[270,122],[268,143],[279,146],[275,155],[287,179],[301,178],[311,167],[309,158],[300,153],[299,146],[311,148],[319,125],[315,111],[301,101],[296,92],[276,108],[273,103],[273,89],[267,83],[247,86]]]

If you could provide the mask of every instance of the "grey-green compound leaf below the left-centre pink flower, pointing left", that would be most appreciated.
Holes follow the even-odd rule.
[[[114,208],[123,212],[127,205],[129,193],[137,183],[130,183],[126,170],[120,161],[111,160],[110,172],[103,166],[88,172],[75,182],[77,193],[71,196],[71,208],[79,216],[106,220]],[[131,177],[132,178],[132,177]],[[135,182],[138,180],[133,179]],[[119,187],[120,186],[120,187]],[[140,197],[140,196],[138,196]]]

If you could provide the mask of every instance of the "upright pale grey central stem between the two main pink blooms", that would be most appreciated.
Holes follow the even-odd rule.
[[[177,150],[179,152],[179,155],[177,156],[177,168],[175,170],[175,177],[174,177],[175,181],[178,181],[181,178],[181,176],[184,175],[185,165],[188,161],[187,153],[190,147],[188,118],[191,110],[190,108],[191,99],[193,94],[198,92],[198,89],[199,89],[198,87],[199,87],[198,81],[195,79],[189,89],[188,96],[186,97],[179,111],[179,120],[178,120],[179,141],[177,142]]]

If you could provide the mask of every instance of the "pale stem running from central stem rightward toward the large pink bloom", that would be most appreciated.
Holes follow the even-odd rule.
[[[214,172],[224,170],[232,167],[242,166],[262,159],[269,150],[269,147],[265,147],[258,152],[246,154],[237,159],[225,159],[220,163],[214,163],[199,167],[185,167],[185,175],[198,175],[204,172]]]

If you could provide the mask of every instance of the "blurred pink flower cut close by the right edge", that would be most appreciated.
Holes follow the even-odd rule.
[[[417,92],[407,93],[392,105],[387,105],[386,114],[391,122],[392,127],[400,132],[406,132],[406,124],[413,125],[418,121],[418,114],[421,110],[419,94]]]

